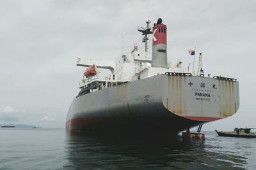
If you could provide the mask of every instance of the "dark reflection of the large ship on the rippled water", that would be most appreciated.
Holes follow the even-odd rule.
[[[246,158],[215,152],[205,141],[66,134],[69,169],[242,169]],[[212,148],[213,147],[213,148]]]

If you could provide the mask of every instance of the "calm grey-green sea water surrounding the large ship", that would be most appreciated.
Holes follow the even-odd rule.
[[[0,169],[256,169],[256,138],[88,136],[0,129]]]

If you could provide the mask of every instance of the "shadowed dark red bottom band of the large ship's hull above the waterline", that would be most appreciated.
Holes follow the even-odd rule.
[[[202,123],[206,122],[182,117],[73,118],[66,123],[66,130],[70,132],[95,130],[139,134],[177,134]]]

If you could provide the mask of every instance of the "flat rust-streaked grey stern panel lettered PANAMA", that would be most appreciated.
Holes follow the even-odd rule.
[[[237,81],[173,75],[166,98],[166,109],[181,117],[226,118],[237,112],[239,87]]]

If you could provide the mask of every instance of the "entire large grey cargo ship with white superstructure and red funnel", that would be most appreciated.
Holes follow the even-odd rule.
[[[134,45],[113,61],[77,58],[77,66],[88,68],[68,110],[67,131],[177,134],[237,112],[236,78],[205,75],[201,53],[197,71],[182,69],[180,60],[168,62],[166,25],[161,18],[153,27],[148,19],[146,24],[138,28],[144,50]],[[111,75],[100,78],[99,69]]]

